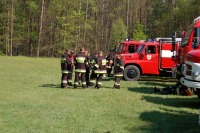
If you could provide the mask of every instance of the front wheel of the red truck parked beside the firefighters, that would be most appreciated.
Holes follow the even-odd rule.
[[[124,79],[126,81],[136,81],[140,78],[140,70],[134,65],[127,66],[124,70]]]

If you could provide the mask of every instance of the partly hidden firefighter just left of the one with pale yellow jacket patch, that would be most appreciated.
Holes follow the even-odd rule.
[[[94,73],[94,71],[95,71],[94,65],[96,63],[97,57],[98,57],[98,53],[96,53],[92,57],[90,57],[90,69],[91,69],[90,83],[89,83],[90,87],[94,87],[96,84],[97,75]]]

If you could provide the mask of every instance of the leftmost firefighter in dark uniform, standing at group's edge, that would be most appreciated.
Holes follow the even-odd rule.
[[[71,50],[66,50],[66,52],[61,56],[61,70],[62,70],[62,77],[61,77],[61,88],[68,87],[68,74],[70,73],[69,68],[71,67],[71,59],[69,57]]]

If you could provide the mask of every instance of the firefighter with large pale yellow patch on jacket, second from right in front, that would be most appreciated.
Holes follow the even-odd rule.
[[[106,58],[103,56],[103,52],[99,51],[98,57],[96,59],[96,64],[94,65],[94,73],[97,75],[96,78],[96,88],[99,89],[102,86],[103,75],[107,73],[106,71]]]

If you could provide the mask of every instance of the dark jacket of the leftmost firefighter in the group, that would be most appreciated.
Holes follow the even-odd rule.
[[[61,70],[62,73],[68,74],[70,73],[70,67],[71,67],[72,61],[67,54],[63,54],[61,56]]]

